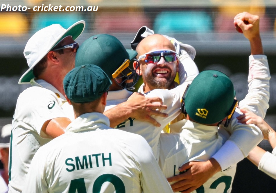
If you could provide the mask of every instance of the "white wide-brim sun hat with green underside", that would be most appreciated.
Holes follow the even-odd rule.
[[[20,77],[18,84],[28,84],[34,78],[33,67],[51,51],[64,37],[71,36],[76,40],[85,28],[85,21],[80,20],[68,29],[53,24],[37,31],[27,42],[24,56],[29,69]]]

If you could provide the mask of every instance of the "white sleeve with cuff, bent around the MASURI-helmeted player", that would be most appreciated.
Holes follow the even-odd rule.
[[[224,127],[220,125],[220,127],[231,133],[229,139],[223,144],[221,149],[212,156],[219,163],[222,170],[237,164],[245,158],[264,138],[261,130],[254,124],[246,125],[239,123],[238,119],[236,119],[239,115],[241,115],[241,112],[236,108],[229,126]]]

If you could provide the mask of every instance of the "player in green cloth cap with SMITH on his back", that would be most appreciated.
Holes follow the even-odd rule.
[[[146,140],[109,127],[105,72],[82,65],[63,82],[76,119],[37,151],[22,192],[172,192]]]

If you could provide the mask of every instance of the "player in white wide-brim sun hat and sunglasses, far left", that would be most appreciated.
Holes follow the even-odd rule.
[[[32,87],[19,95],[12,120],[9,192],[22,191],[37,149],[64,133],[74,117],[62,109],[66,102],[62,80],[75,65],[75,40],[84,27],[84,21],[68,29],[53,24],[36,32],[26,44],[29,69],[19,84],[30,83]]]

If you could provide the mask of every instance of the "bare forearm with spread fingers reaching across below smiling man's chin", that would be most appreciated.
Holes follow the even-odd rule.
[[[126,102],[117,105],[105,111],[103,114],[110,120],[110,127],[116,127],[129,117],[148,121],[155,126],[160,124],[151,117],[151,115],[167,117],[166,113],[162,113],[157,109],[166,109],[166,105],[162,105],[162,99],[159,97],[146,98],[143,94],[134,92]]]

